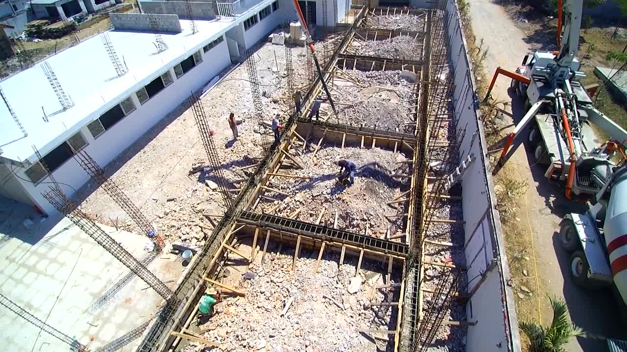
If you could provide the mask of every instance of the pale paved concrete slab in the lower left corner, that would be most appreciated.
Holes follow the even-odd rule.
[[[161,297],[70,220],[39,223],[29,207],[0,203],[0,292],[92,351],[134,350]],[[34,219],[29,229],[23,225],[27,217]],[[102,228],[140,261],[149,256],[145,237]],[[150,270],[176,282],[181,262],[173,255],[154,257]],[[5,351],[68,350],[17,314],[2,306],[0,311]]]

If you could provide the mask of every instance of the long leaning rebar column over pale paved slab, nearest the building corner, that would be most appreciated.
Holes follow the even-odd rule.
[[[43,194],[43,197],[52,204],[56,210],[65,215],[71,222],[78,226],[85,234],[92,237],[105,251],[112,254],[115,259],[120,261],[124,266],[134,272],[140,279],[142,279],[148,286],[152,287],[159,296],[169,302],[174,293],[172,292],[163,281],[159,280],[147,267],[142,265],[135,257],[133,257],[129,251],[124,249],[113,237],[104,232],[95,222],[93,222],[87,214],[83,213],[78,207],[76,207],[66,195],[61,192],[60,189],[50,187],[48,192]]]

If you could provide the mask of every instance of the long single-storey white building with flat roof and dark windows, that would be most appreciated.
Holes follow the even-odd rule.
[[[344,1],[338,3],[342,3],[338,13],[343,18]],[[195,20],[198,33],[193,35],[189,21],[176,19],[182,31],[162,34],[169,49],[159,54],[155,54],[150,31],[108,31],[120,61],[129,70],[120,77],[105,51],[102,34],[51,56],[47,63],[75,103],[66,110],[40,65],[1,81],[0,87],[28,136],[24,137],[8,108],[0,106],[0,194],[54,212],[41,195],[51,179],[38,162],[35,148],[66,194],[72,195],[88,180],[72,157],[74,150],[85,148],[98,164],[107,165],[174,110],[190,91],[203,87],[231,65],[243,49],[296,17],[291,0],[265,0],[239,12],[231,18]],[[135,19],[135,25],[147,25],[147,21],[137,24]]]

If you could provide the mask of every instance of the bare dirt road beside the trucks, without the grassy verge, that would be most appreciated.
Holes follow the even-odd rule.
[[[497,66],[514,70],[517,65],[520,65],[523,56],[532,50],[530,44],[527,44],[531,42],[530,38],[515,26],[514,21],[505,13],[502,6],[491,0],[474,0],[469,3],[477,43],[483,39],[484,48],[486,45],[489,48],[487,62],[484,63],[489,75],[492,75]],[[488,82],[483,84],[486,83]],[[515,96],[512,99],[508,95],[509,85],[510,80],[500,78],[492,93],[495,100],[512,101],[506,111],[506,113],[511,113],[512,117],[503,115],[503,126],[510,126],[506,129],[507,131],[511,129],[512,118],[514,122],[518,122],[524,115],[522,102]],[[527,133],[524,131],[521,136],[526,137]],[[530,261],[532,267],[530,276],[537,275],[540,278],[540,287],[545,287],[540,295],[548,293],[563,298],[568,305],[573,323],[581,326],[589,334],[624,338],[624,333],[621,336],[619,328],[621,322],[617,314],[618,308],[611,292],[605,290],[588,292],[574,286],[569,277],[569,255],[557,242],[557,232],[562,216],[567,212],[582,212],[585,208],[569,202],[564,197],[563,188],[545,179],[542,166],[529,168],[529,165],[533,163],[533,157],[527,153],[524,145],[519,145],[514,156],[508,161],[508,167],[517,170],[512,174],[527,180],[529,184],[527,193],[519,204],[519,218],[520,225],[525,228],[530,227],[533,236],[536,265],[534,267],[534,261]],[[505,238],[507,239],[507,234]],[[532,297],[525,299],[534,300],[535,318],[541,314],[543,323],[550,324],[552,316],[549,311],[537,312],[539,309],[535,281],[529,281],[529,286],[534,287],[532,289],[534,292]],[[601,339],[579,338],[572,339],[567,344],[566,350],[597,352],[606,351],[606,347]]]

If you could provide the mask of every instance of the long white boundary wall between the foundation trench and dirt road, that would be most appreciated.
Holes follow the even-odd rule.
[[[514,292],[506,284],[510,272],[500,218],[495,210],[496,195],[485,155],[487,146],[483,123],[479,120],[472,64],[456,1],[447,1],[445,10],[455,118],[459,129],[466,128],[460,160],[468,153],[475,156],[475,162],[461,180],[468,292],[472,294],[466,305],[466,317],[468,321],[477,322],[468,327],[466,351],[519,352]]]

